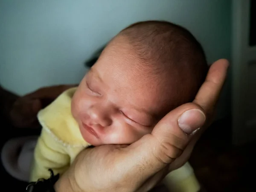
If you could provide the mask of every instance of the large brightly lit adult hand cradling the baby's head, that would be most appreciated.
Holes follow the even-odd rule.
[[[55,184],[56,192],[145,192],[189,159],[212,121],[228,61],[216,61],[192,103],[169,112],[137,142],[82,151]],[[207,117],[207,118],[206,118]],[[199,129],[200,128],[200,129]]]

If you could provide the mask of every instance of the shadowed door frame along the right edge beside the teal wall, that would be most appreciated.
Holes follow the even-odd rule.
[[[250,112],[256,106],[250,106],[252,99],[248,101],[250,89],[256,92],[256,87],[250,86],[254,70],[250,71],[256,70],[256,46],[249,46],[250,0],[232,3],[232,132],[233,144],[238,145],[256,139],[256,113],[253,118]]]

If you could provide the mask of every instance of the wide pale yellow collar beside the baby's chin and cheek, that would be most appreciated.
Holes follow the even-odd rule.
[[[38,120],[43,129],[55,140],[68,146],[86,146],[81,136],[79,125],[71,113],[71,100],[76,88],[66,90],[55,101],[38,113]]]

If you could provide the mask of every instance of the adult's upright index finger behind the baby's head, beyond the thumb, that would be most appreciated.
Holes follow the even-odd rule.
[[[200,105],[206,113],[211,113],[218,100],[221,88],[227,76],[229,62],[220,59],[213,63],[209,69],[205,82],[198,91],[194,103]]]

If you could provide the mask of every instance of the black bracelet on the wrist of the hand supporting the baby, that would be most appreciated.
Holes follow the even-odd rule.
[[[31,182],[26,187],[26,192],[55,192],[54,184],[59,179],[60,175],[54,175],[52,169],[49,169],[49,179],[38,179],[37,182]]]

